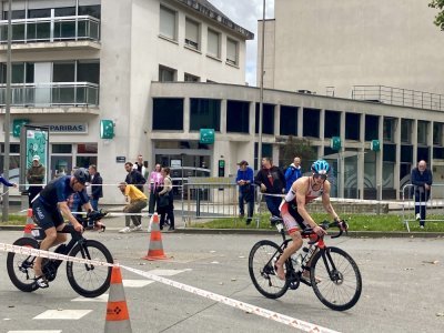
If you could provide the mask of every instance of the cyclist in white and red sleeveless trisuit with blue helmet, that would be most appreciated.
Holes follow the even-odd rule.
[[[314,222],[306,211],[305,205],[321,196],[325,211],[335,221],[340,221],[340,218],[330,202],[331,184],[326,179],[330,171],[329,163],[324,160],[317,160],[312,164],[312,171],[313,175],[302,176],[292,184],[280,206],[281,216],[285,223],[286,231],[293,240],[275,263],[276,275],[281,280],[285,279],[283,269],[285,261],[302,246],[301,231],[305,228],[312,228],[319,236],[326,234],[325,230]],[[310,272],[306,271],[303,272],[302,278],[307,279],[309,275]]]

